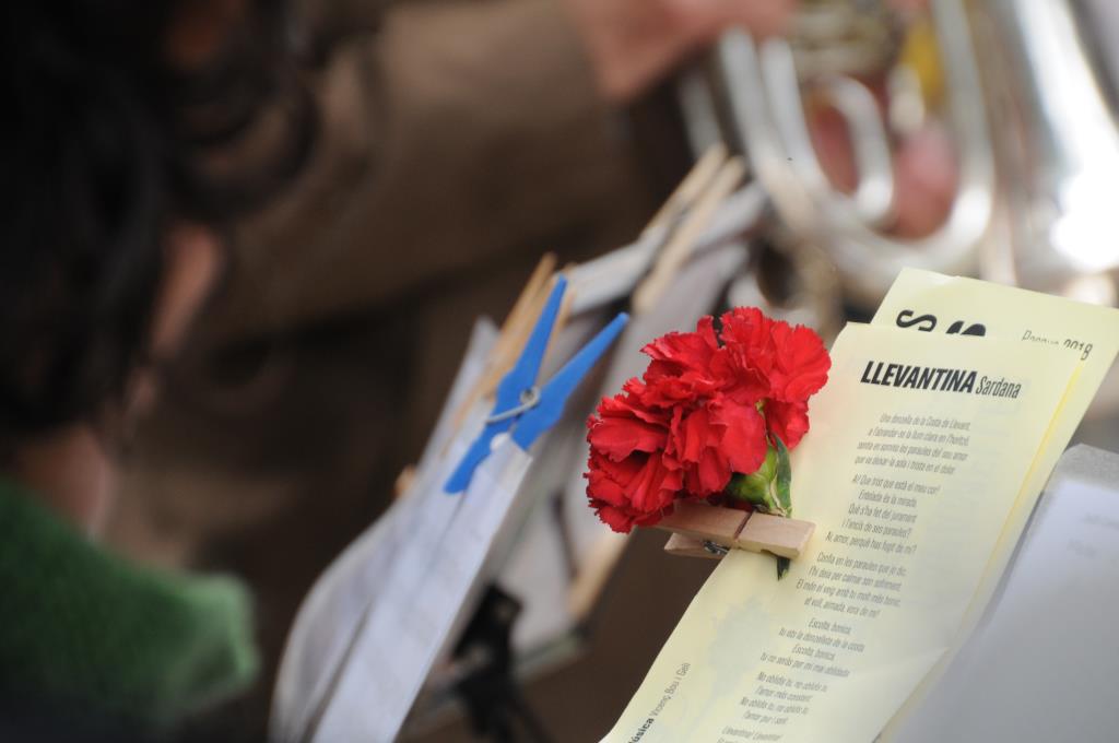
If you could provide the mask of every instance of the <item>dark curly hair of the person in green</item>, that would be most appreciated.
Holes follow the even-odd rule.
[[[214,1],[0,9],[0,442],[120,399],[147,360],[169,227],[223,229],[305,159],[314,113],[281,0],[245,0],[205,65],[171,60],[173,23]],[[264,157],[263,120],[284,131]]]

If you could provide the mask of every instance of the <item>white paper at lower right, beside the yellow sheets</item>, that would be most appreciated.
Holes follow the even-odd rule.
[[[1119,740],[1119,491],[1045,493],[1000,595],[896,741]]]

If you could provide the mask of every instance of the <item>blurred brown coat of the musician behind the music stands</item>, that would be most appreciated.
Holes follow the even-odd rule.
[[[269,669],[251,731],[299,601],[385,507],[473,318],[504,314],[543,251],[620,244],[651,211],[551,0],[327,10],[313,27],[338,40],[313,78],[312,162],[238,229],[110,530],[250,580]]]

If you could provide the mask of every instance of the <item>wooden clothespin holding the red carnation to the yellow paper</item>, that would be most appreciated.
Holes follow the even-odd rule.
[[[730,549],[800,556],[816,525],[759,511],[706,504],[676,504],[657,528],[671,532],[665,551],[685,557],[722,557]]]

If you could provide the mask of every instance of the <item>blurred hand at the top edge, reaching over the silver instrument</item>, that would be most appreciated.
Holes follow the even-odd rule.
[[[796,0],[563,0],[603,94],[632,98],[683,57],[742,26],[777,34]]]

